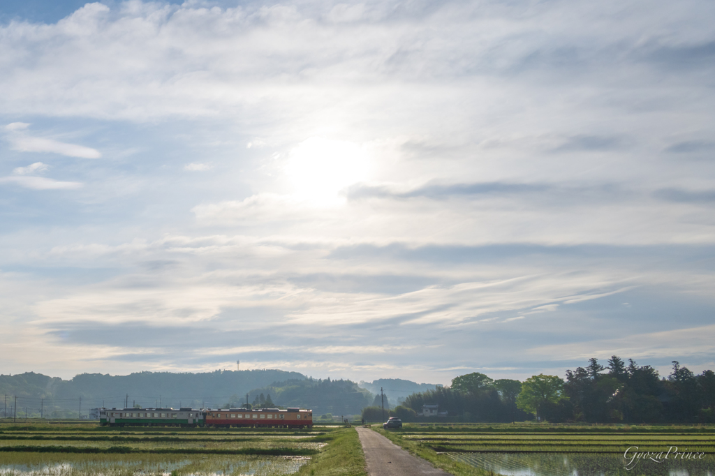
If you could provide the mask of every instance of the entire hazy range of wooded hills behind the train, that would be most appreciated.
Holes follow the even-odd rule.
[[[302,382],[306,381],[306,382]],[[373,402],[383,387],[390,407],[414,392],[434,390],[435,385],[410,380],[380,379],[373,382],[312,380],[284,370],[216,370],[203,373],[137,372],[130,375],[80,374],[71,380],[26,372],[0,375],[0,415],[77,417],[94,407],[194,407],[217,408],[254,402],[261,393],[272,395],[281,406],[315,407],[317,414],[347,415]],[[80,398],[82,400],[80,400]],[[284,401],[285,400],[285,401]],[[386,402],[387,403],[387,402]]]

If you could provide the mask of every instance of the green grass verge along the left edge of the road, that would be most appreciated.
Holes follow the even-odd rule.
[[[367,476],[365,453],[354,428],[342,428],[320,437],[327,442],[320,454],[300,467],[297,476]]]

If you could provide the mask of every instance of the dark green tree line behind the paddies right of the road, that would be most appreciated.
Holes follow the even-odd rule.
[[[593,358],[567,370],[566,380],[543,374],[524,382],[493,380],[473,372],[453,379],[451,387],[410,395],[390,416],[427,419],[420,415],[430,404],[448,420],[463,422],[711,423],[715,372],[695,375],[673,361],[670,375],[661,377],[649,365],[626,364],[616,355],[606,366]]]

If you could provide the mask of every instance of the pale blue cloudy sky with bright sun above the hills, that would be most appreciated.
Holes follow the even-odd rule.
[[[3,1],[1,372],[715,369],[713,24]]]

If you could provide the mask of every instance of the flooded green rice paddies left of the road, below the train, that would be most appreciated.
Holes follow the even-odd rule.
[[[290,475],[336,430],[4,424],[0,476]]]

